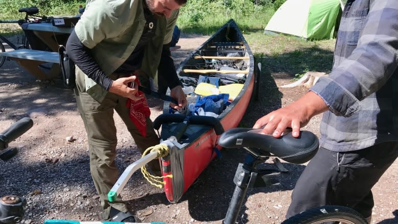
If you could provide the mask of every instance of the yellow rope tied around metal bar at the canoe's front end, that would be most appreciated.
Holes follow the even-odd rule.
[[[145,155],[147,155],[148,153],[153,152],[153,151],[158,153],[157,159],[160,157],[165,157],[169,154],[169,149],[166,144],[158,144],[158,145],[155,145],[152,147],[148,147],[142,154],[142,157],[144,157]],[[153,176],[153,175],[151,175],[151,173],[149,173],[146,170],[145,165],[141,167],[141,172],[142,172],[142,175],[144,176],[144,178],[148,182],[150,182],[150,184],[152,184],[156,187],[159,187],[159,188],[162,188],[163,185],[165,184],[165,182],[162,181],[163,178],[172,178],[173,177],[172,175],[167,175],[167,176],[162,176],[162,177]],[[160,179],[160,180],[157,180],[157,179]]]

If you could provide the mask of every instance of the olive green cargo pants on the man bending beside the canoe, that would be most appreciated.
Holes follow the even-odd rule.
[[[111,75],[110,78],[115,80],[118,77]],[[125,122],[141,153],[146,148],[159,144],[159,138],[149,118],[146,120],[146,137],[139,133],[130,120],[129,108],[126,107],[127,98],[108,92],[104,101],[99,103],[85,92],[84,76],[77,74],[76,85],[74,93],[78,111],[87,132],[91,177],[101,198],[101,206],[104,209],[103,219],[107,219],[110,205],[122,212],[128,211],[120,196],[111,204],[108,201],[108,192],[118,179],[118,169],[115,166],[117,137],[113,111],[116,111]],[[152,171],[160,171],[160,164],[157,160],[148,163],[148,166]]]

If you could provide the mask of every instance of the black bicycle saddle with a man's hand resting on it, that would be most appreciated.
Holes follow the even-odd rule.
[[[226,148],[248,147],[257,148],[266,155],[271,153],[286,162],[301,164],[309,161],[318,151],[318,138],[309,131],[300,131],[294,138],[290,133],[280,138],[262,135],[260,130],[250,128],[234,128],[224,132],[218,144]]]

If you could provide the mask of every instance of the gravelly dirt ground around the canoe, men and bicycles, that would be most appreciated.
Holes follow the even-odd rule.
[[[208,37],[183,35],[181,49],[173,52],[177,64]],[[263,71],[260,101],[251,104],[242,125],[252,127],[263,114],[294,101],[307,90],[280,89],[290,80],[286,74]],[[282,91],[282,92],[279,92]],[[282,98],[271,97],[281,95]],[[156,99],[149,101],[152,118],[161,111]],[[16,194],[27,199],[24,223],[43,223],[46,219],[98,220],[99,200],[91,181],[86,134],[76,111],[70,90],[59,81],[39,82],[15,62],[0,68],[0,130],[16,120],[29,116],[34,127],[16,141],[18,155],[8,162],[0,161],[0,193]],[[139,158],[131,136],[118,116],[116,163],[120,170]],[[319,135],[320,116],[305,128]],[[68,142],[66,137],[76,141]],[[214,223],[225,217],[233,193],[237,164],[243,161],[242,150],[223,150],[177,204],[170,204],[162,189],[155,188],[134,173],[121,195],[143,222]],[[265,167],[273,165],[267,163]],[[285,164],[289,173],[279,179],[281,185],[248,190],[239,222],[280,223],[290,203],[291,190],[305,165]],[[375,208],[372,223],[398,223],[398,162],[395,162],[374,188]]]

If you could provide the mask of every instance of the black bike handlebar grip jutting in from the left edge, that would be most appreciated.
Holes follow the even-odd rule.
[[[29,117],[24,117],[13,123],[8,129],[0,133],[0,150],[7,148],[9,142],[15,140],[32,127],[33,120]]]

